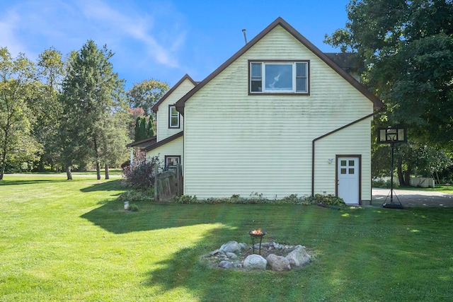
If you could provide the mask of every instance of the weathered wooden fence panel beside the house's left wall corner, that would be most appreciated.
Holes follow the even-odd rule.
[[[154,168],[154,200],[168,202],[183,194],[183,173],[181,165],[158,173],[157,165]]]

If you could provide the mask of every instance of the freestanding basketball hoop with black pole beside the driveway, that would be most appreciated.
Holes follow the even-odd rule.
[[[387,127],[379,128],[377,133],[377,142],[379,144],[390,144],[391,146],[391,166],[390,166],[390,203],[387,203],[387,199],[382,204],[382,207],[393,208],[393,209],[403,209],[401,202],[398,204],[394,203],[394,150],[395,144],[406,142],[406,129],[399,127]],[[389,197],[387,195],[387,197]],[[397,197],[398,198],[398,197]]]

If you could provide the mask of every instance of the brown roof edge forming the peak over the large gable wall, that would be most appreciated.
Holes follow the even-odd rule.
[[[183,96],[183,98],[180,98],[178,102],[176,102],[176,110],[178,110],[182,115],[184,114],[184,105],[185,101],[188,100],[192,95],[194,95],[197,91],[199,91],[203,86],[205,86],[207,83],[209,83],[214,77],[216,77],[218,74],[220,74],[226,67],[228,67],[231,63],[236,61],[239,57],[241,57],[242,54],[244,54],[247,50],[249,50],[253,45],[255,45],[259,40],[261,40],[265,35],[270,33],[271,30],[273,30],[277,25],[282,26],[282,28],[285,28],[288,33],[290,33],[293,37],[295,37],[299,42],[302,43],[306,48],[308,48],[311,52],[316,54],[323,62],[328,64],[328,66],[331,66],[333,70],[335,70],[340,76],[343,76],[343,78],[348,81],[352,86],[354,86],[360,93],[365,95],[369,100],[372,101],[374,104],[374,108],[384,108],[385,105],[382,103],[382,100],[379,100],[376,95],[372,94],[371,92],[368,91],[368,89],[363,86],[361,83],[356,81],[350,74],[348,74],[345,70],[343,70],[340,66],[338,66],[336,63],[334,63],[329,57],[321,52],[318,47],[314,46],[309,40],[306,40],[306,37],[301,35],[297,30],[295,30],[289,23],[287,23],[283,18],[278,17],[275,19],[273,23],[270,23],[267,28],[265,28],[261,33],[259,33],[256,37],[254,37],[250,42],[248,42],[245,46],[241,48],[236,54],[234,54],[232,57],[230,57],[224,64],[220,65],[219,68],[214,70],[212,74],[206,77],[203,81],[201,81],[197,86],[195,86],[191,91],[189,91],[186,95]]]

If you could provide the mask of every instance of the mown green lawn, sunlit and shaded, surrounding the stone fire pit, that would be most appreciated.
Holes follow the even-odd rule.
[[[269,204],[151,204],[124,211],[117,180],[6,175],[0,301],[452,301],[453,209],[341,211]],[[209,269],[229,240],[302,244],[285,273]]]

